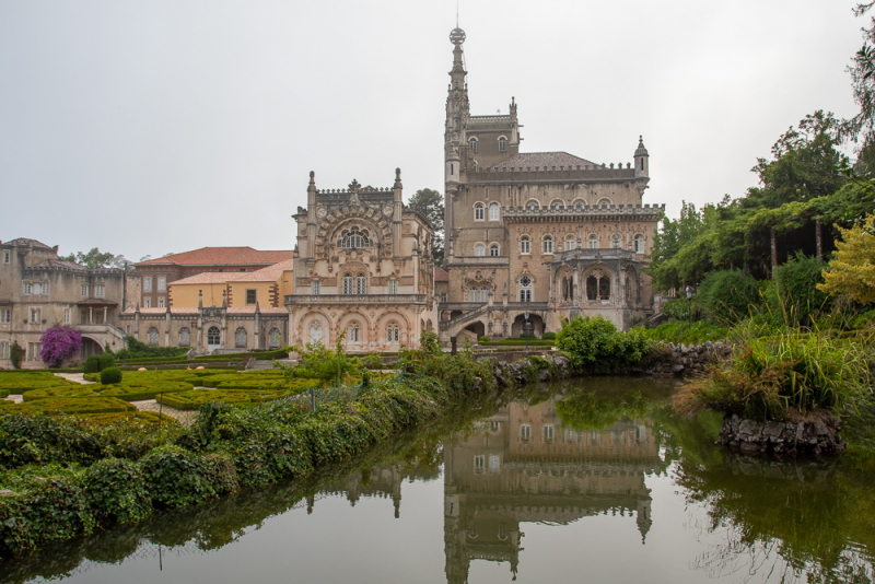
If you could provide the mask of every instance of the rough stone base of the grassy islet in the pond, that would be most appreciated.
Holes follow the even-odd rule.
[[[761,422],[736,414],[723,418],[718,444],[738,448],[745,454],[814,455],[844,451],[839,436],[841,420],[828,411],[817,411],[804,420]]]

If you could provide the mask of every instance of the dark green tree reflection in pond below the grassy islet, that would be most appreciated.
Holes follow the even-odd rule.
[[[839,459],[775,460],[723,453],[719,465],[682,459],[676,481],[701,503],[700,528],[720,534],[692,563],[746,582],[873,582],[875,499]]]

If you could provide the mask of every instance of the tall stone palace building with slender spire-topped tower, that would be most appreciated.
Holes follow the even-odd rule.
[[[538,337],[576,315],[623,329],[648,315],[653,291],[642,268],[665,206],[642,205],[643,140],[618,164],[521,152],[517,104],[508,115],[471,115],[465,33],[455,28],[450,40],[441,337],[516,337],[526,313]]]

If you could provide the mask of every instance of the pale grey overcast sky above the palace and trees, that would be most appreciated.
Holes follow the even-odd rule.
[[[516,97],[522,150],[631,162],[644,201],[739,196],[816,109],[856,112],[847,0],[463,0],[475,115]],[[443,190],[456,3],[0,0],[0,240],[139,259],[294,246],[352,178]]]

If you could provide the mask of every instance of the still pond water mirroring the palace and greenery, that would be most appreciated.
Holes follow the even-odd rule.
[[[875,464],[747,458],[674,387],[489,400],[327,469],[0,564],[3,582],[872,582]]]

